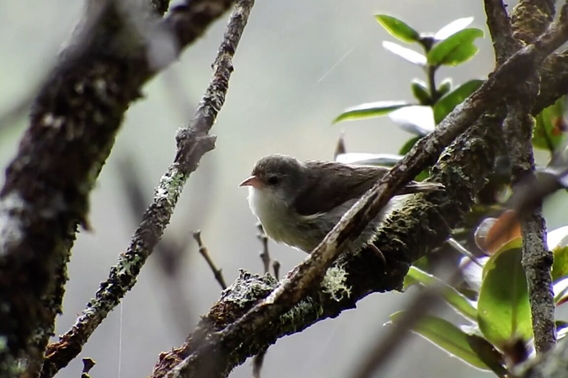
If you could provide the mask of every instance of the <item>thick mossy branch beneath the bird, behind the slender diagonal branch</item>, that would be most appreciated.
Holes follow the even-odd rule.
[[[152,377],[163,377],[169,372],[179,377],[225,377],[232,368],[284,335],[336,317],[345,309],[356,307],[358,300],[372,292],[400,290],[410,263],[446,240],[448,226],[455,227],[461,222],[475,194],[485,184],[485,177],[494,165],[495,146],[499,146],[495,133],[500,121],[498,117],[482,117],[477,126],[458,138],[442,155],[433,168],[432,177],[446,186],[444,193],[417,195],[405,209],[387,220],[375,241],[387,258],[387,266],[367,249],[339,258],[335,266],[348,274],[350,296],[337,301],[316,290],[269,326],[253,334],[232,335],[224,339],[222,345],[216,345],[216,332],[240,318],[277,284],[269,276],[261,278],[241,272],[187,341],[160,355]],[[191,369],[180,368],[183,360],[194,362]]]

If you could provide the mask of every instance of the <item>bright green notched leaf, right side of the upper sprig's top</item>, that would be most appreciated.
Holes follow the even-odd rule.
[[[483,37],[483,31],[478,28],[463,29],[436,44],[428,52],[428,64],[431,66],[456,66],[473,58],[478,52],[473,43]]]

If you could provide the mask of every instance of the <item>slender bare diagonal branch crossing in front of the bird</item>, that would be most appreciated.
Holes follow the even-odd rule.
[[[541,65],[546,56],[566,39],[568,39],[568,25],[563,20],[562,23],[550,27],[546,33],[538,37],[534,44],[515,53],[490,75],[487,82],[473,95],[454,109],[435,131],[416,143],[404,159],[395,164],[387,175],[365,193],[310,256],[302,264],[296,266],[288,277],[270,292],[268,297],[244,312],[244,315],[237,320],[229,324],[223,321],[222,326],[219,326],[220,329],[218,328],[216,332],[211,328],[198,327],[190,337],[190,342],[193,341],[190,346],[185,345],[185,347],[174,350],[172,355],[162,355],[161,361],[165,364],[158,364],[154,376],[163,376],[166,373],[170,377],[225,376],[235,363],[239,363],[246,356],[239,354],[239,349],[256,345],[254,343],[255,333],[269,328],[277,318],[281,321],[287,311],[305,298],[308,292],[315,290],[325,270],[341,253],[344,243],[356,237],[365,224],[378,213],[404,183],[410,181],[421,169],[435,161],[441,150],[473,124],[484,111],[492,106],[492,103],[498,101],[509,91],[515,90],[518,83],[528,77],[536,67]],[[470,203],[467,199],[464,201]],[[390,236],[399,240],[396,235]],[[413,246],[419,244],[416,243]],[[379,249],[384,253],[384,249]],[[408,258],[406,262],[414,261],[416,254],[418,254],[417,251],[406,256]],[[399,266],[398,270],[388,269],[385,272],[394,274],[394,272],[402,271],[402,277],[404,277],[406,269],[403,265]],[[375,275],[377,275],[376,272]],[[390,287],[399,287],[402,277],[400,281],[390,281]],[[272,342],[273,339],[270,340]]]

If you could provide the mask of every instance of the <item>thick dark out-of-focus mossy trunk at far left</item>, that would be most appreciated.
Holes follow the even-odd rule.
[[[168,2],[154,1],[164,11]],[[158,27],[181,49],[231,5],[196,0]],[[35,376],[53,333],[77,225],[123,114],[158,68],[118,2],[89,2],[82,33],[61,56],[32,107],[30,126],[0,190],[0,377]],[[142,15],[139,15],[142,16]],[[189,23],[189,25],[184,25]],[[172,54],[162,66],[174,60]],[[26,361],[27,366],[18,362]]]

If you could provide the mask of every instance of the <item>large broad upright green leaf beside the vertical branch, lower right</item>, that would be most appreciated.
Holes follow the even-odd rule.
[[[527,279],[521,249],[502,249],[489,258],[477,301],[479,329],[494,345],[532,337]]]

